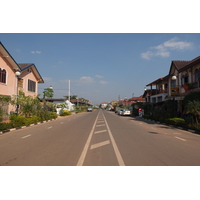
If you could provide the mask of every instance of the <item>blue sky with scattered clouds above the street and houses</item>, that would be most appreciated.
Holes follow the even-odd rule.
[[[1,33],[17,63],[34,63],[54,97],[71,94],[93,104],[143,94],[168,74],[172,60],[200,56],[198,33]]]

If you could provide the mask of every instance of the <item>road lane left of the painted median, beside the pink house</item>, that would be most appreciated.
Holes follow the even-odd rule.
[[[0,145],[0,165],[75,165],[95,115],[84,113],[13,132],[13,139],[9,135],[8,142]],[[24,134],[31,137],[23,139]]]

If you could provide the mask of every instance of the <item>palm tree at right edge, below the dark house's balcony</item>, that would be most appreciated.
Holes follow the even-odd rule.
[[[197,100],[189,101],[186,105],[186,113],[193,114],[196,123],[198,124],[198,119],[200,116],[200,101]]]

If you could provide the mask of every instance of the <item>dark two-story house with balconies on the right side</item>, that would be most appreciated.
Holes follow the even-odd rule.
[[[183,100],[187,94],[200,91],[200,56],[190,61],[172,61],[167,76],[146,86],[150,88],[145,89],[143,97],[151,103]]]

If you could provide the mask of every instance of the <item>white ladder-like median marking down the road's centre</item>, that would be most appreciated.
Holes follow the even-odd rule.
[[[95,128],[97,128],[97,127],[101,127],[102,130],[95,131]],[[96,143],[96,144],[91,144],[91,140],[92,140],[92,137],[94,136],[94,134],[101,134],[101,133],[106,133],[106,132],[109,135],[109,138],[110,138],[109,140],[105,140],[105,141],[102,141],[102,142],[99,142],[99,143]],[[94,125],[91,129],[89,137],[88,137],[88,139],[85,143],[85,146],[83,148],[81,156],[78,160],[77,166],[82,166],[84,164],[85,157],[87,155],[88,149],[92,150],[92,149],[95,149],[95,148],[103,147],[105,145],[112,145],[119,166],[125,166],[124,161],[122,159],[122,156],[121,156],[119,149],[116,145],[115,139],[114,139],[112,132],[109,128],[109,125],[106,121],[106,118],[105,118],[103,112],[100,110],[98,115],[97,115],[97,118],[94,122]]]

